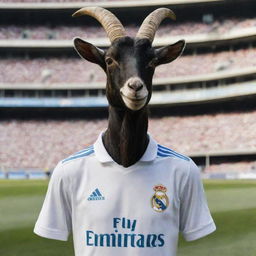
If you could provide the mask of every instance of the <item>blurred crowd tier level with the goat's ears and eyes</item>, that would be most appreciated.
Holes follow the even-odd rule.
[[[181,77],[256,66],[253,48],[182,56],[156,68],[155,78]],[[105,73],[80,58],[6,58],[0,60],[2,83],[88,83],[105,81]]]

